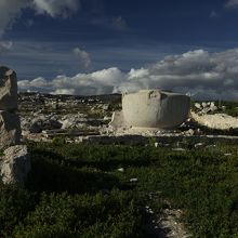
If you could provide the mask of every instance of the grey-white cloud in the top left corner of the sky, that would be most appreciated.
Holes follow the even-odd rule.
[[[67,17],[78,11],[80,0],[1,0],[0,1],[0,35],[12,26],[22,10],[30,8],[38,14],[52,17]]]

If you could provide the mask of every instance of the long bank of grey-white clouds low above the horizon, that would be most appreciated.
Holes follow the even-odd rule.
[[[37,90],[41,80],[19,81],[19,89]],[[204,50],[170,55],[147,68],[122,72],[116,67],[57,76],[42,80],[40,89],[47,92],[72,94],[105,94],[133,92],[141,89],[164,89],[195,95],[197,98],[238,98],[238,49],[220,53]]]

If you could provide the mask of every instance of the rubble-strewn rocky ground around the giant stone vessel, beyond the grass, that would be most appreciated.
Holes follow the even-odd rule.
[[[65,137],[79,142],[85,136],[194,136],[238,135],[238,118],[224,113],[214,102],[195,103],[188,120],[176,130],[137,130],[108,124],[120,109],[120,95],[67,96],[24,93],[18,96],[24,138],[49,141]]]

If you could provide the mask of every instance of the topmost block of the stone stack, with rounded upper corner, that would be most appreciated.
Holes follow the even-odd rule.
[[[17,80],[12,69],[0,66],[0,110],[17,109]]]

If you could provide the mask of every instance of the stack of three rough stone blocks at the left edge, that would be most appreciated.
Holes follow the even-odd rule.
[[[25,145],[21,143],[21,121],[17,109],[16,74],[0,66],[0,178],[3,184],[24,186],[30,161]]]

